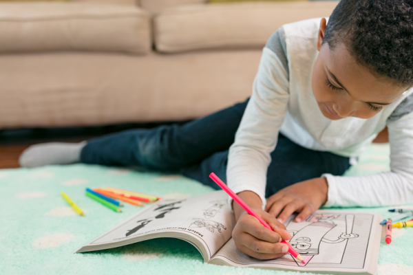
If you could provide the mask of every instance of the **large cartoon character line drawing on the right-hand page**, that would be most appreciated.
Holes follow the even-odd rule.
[[[354,214],[313,214],[301,223],[290,219],[286,228],[290,244],[305,260],[294,261],[299,266],[311,263],[341,263],[348,239],[359,237],[352,232]],[[284,257],[283,257],[284,258]]]

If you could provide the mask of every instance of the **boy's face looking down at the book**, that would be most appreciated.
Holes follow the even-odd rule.
[[[324,30],[326,19],[321,19],[312,87],[326,118],[372,118],[407,89],[357,64],[345,45],[337,45],[332,51],[328,43],[321,45]]]

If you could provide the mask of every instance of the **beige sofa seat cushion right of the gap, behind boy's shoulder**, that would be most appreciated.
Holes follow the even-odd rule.
[[[264,47],[271,34],[285,23],[329,17],[337,3],[222,3],[165,10],[154,19],[156,49],[172,53]]]

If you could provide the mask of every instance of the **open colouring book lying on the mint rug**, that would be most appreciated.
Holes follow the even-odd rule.
[[[204,262],[217,265],[334,274],[376,273],[380,214],[318,210],[301,223],[295,223],[292,216],[284,224],[292,236],[290,244],[306,264],[295,261],[291,255],[262,261],[235,248],[231,238],[235,217],[226,199],[223,190],[187,199],[162,199],[77,252],[168,237],[191,243]]]

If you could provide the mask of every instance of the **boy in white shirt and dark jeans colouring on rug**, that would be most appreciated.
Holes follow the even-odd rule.
[[[328,25],[301,21],[271,36],[249,101],[183,126],[35,145],[20,161],[180,170],[218,188],[215,172],[275,230],[230,200],[237,249],[274,259],[287,253],[279,241],[290,239],[282,222],[293,212],[299,222],[321,205],[412,201],[412,45],[413,1],[341,0]],[[391,171],[340,177],[385,126]]]

